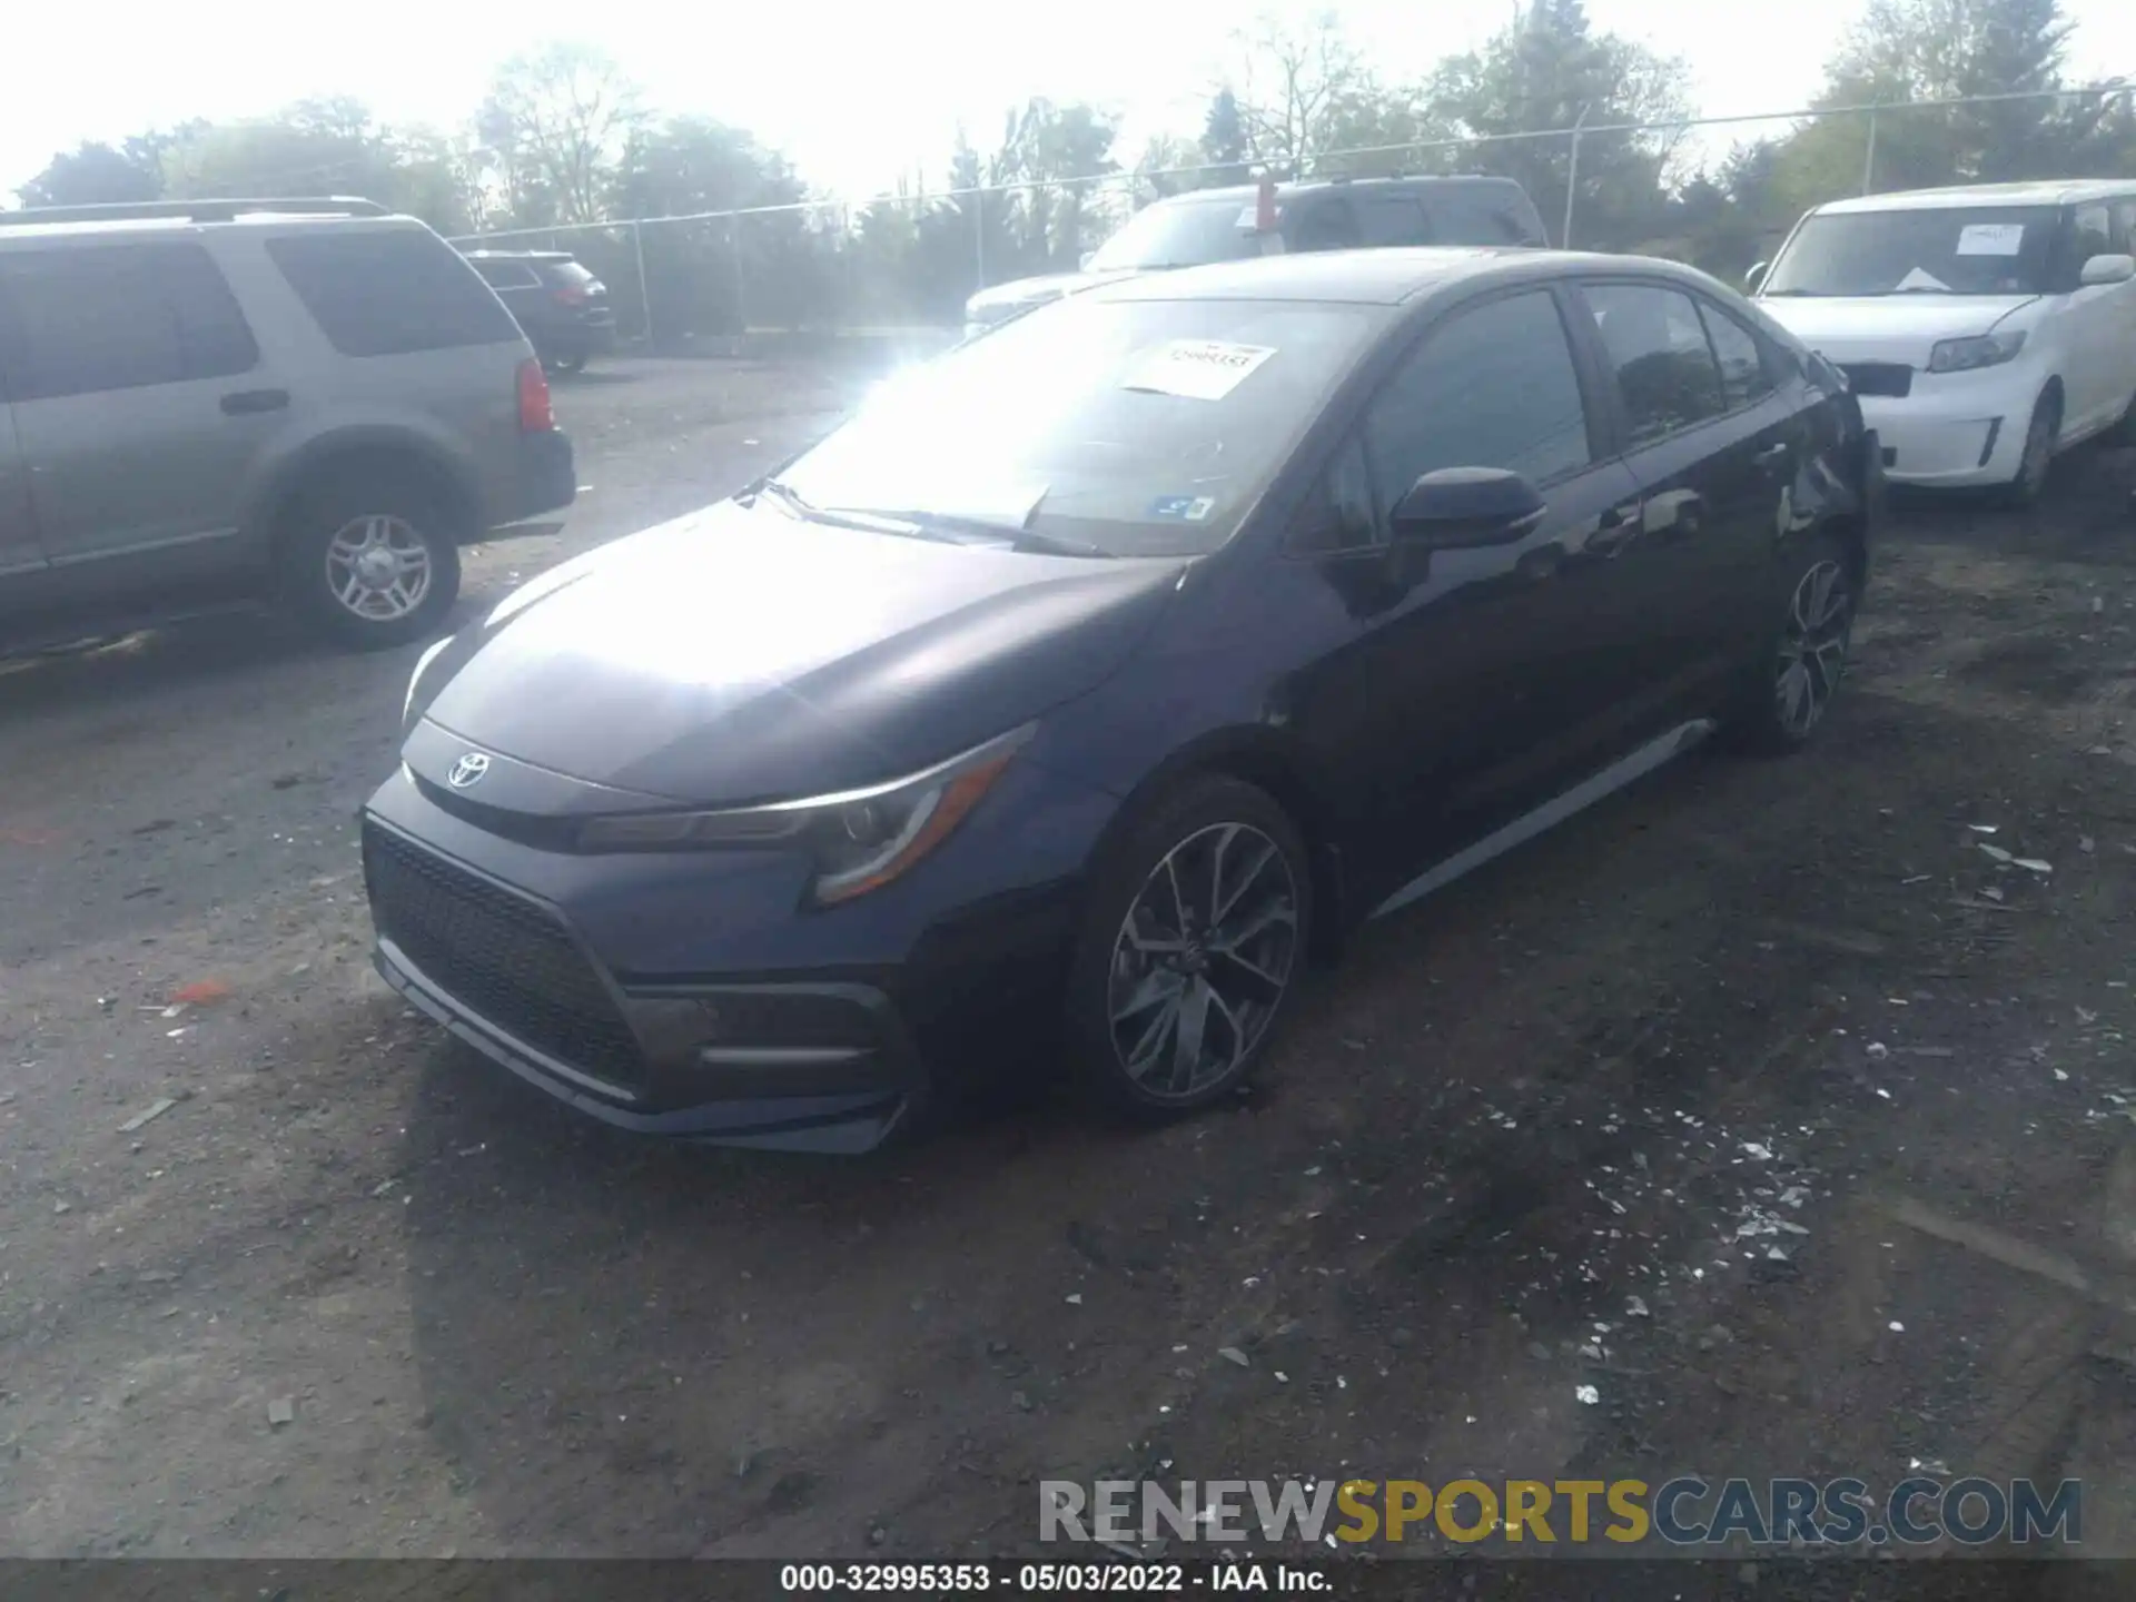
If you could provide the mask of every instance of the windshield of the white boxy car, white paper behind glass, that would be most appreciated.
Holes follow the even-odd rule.
[[[2040,295],[2048,205],[1839,211],[1803,222],[1764,295]]]

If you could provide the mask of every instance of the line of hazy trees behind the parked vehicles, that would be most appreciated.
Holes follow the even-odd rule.
[[[1683,62],[1593,28],[1581,0],[1523,0],[1480,49],[1418,79],[1376,68],[1333,13],[1262,19],[1228,41],[1198,128],[1130,152],[1111,109],[1030,100],[991,141],[959,132],[940,173],[895,194],[786,211],[767,207],[820,197],[778,152],[707,115],[662,115],[617,62],[557,43],[498,68],[457,130],[384,126],[352,98],[305,100],[273,117],[83,143],[53,156],[21,201],[337,192],[449,235],[752,211],[645,229],[656,335],[951,320],[983,278],[1072,267],[1136,205],[1258,171],[1506,175],[1553,237],[1576,182],[1576,244],[1737,276],[1805,207],[1865,182],[2136,173],[2136,96],[2074,81],[2070,34],[2059,0],[1871,0],[1811,100],[1835,115],[1694,158]],[[1933,105],[1980,96],[2031,98]],[[1918,109],[1875,117],[1873,132],[1869,117],[1837,115],[1863,105]],[[1598,130],[1579,141],[1576,173],[1561,137],[1574,124]],[[632,241],[560,239],[634,323]]]

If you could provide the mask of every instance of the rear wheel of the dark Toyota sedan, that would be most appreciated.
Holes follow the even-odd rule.
[[[1771,643],[1745,671],[1728,718],[1745,752],[1786,756],[1809,743],[1839,694],[1854,643],[1854,553],[1835,534],[1816,534],[1779,568]]]

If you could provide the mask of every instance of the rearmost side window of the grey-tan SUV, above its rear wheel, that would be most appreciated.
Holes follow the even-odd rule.
[[[299,233],[269,239],[267,254],[344,357],[519,340],[513,314],[468,258],[434,233]]]

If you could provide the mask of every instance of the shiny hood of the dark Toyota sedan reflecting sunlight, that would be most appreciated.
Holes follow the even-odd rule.
[[[417,686],[404,760],[442,784],[483,752],[692,805],[878,784],[1096,688],[1183,566],[722,502],[553,568],[459,634]]]

